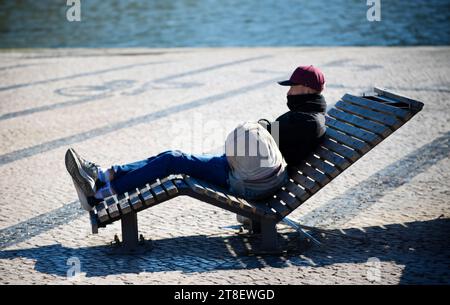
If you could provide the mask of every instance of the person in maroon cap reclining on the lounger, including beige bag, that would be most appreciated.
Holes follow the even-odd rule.
[[[326,102],[321,95],[324,83],[318,68],[298,67],[289,80],[279,82],[290,86],[287,92],[290,111],[273,123],[263,119],[265,123],[238,125],[227,136],[222,155],[167,150],[145,160],[104,168],[69,148],[65,165],[81,206],[90,211],[106,197],[123,194],[171,174],[192,176],[247,200],[270,196],[289,179],[287,164],[301,161],[325,133]],[[269,133],[275,123],[279,127],[279,145]]]

